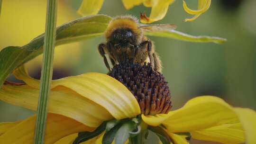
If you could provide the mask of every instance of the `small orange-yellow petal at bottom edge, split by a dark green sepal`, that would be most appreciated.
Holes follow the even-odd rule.
[[[54,144],[73,144],[73,141],[75,140],[75,138],[77,137],[78,133],[72,134],[72,135],[68,135],[63,137],[62,139],[58,140],[57,142],[55,142]],[[94,142],[96,141],[97,137],[91,138],[90,140],[87,140],[85,142],[82,142],[80,144],[94,144]]]

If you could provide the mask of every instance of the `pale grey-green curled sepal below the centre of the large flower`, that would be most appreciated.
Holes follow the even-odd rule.
[[[136,128],[136,124],[133,121],[124,123],[118,130],[115,136],[115,144],[125,144],[129,138],[129,133]]]

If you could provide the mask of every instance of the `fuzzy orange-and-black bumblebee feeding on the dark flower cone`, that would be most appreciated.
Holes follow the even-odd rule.
[[[107,42],[98,46],[99,53],[110,71],[106,54],[112,65],[128,61],[130,63],[147,63],[157,72],[161,72],[162,64],[154,43],[144,35],[144,31],[161,31],[174,29],[171,24],[146,25],[138,23],[132,16],[113,18],[106,31]]]

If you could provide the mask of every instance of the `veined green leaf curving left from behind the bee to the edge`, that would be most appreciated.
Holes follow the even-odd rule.
[[[102,36],[110,20],[109,16],[95,15],[57,27],[56,46]],[[45,34],[37,36],[27,45],[8,46],[0,51],[0,86],[15,68],[42,54],[44,36]]]

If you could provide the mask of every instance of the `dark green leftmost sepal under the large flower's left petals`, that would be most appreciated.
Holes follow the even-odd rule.
[[[73,144],[80,144],[85,142],[95,136],[100,135],[106,129],[107,122],[103,122],[99,127],[97,127],[93,132],[81,132],[78,133],[78,137],[75,138]]]

